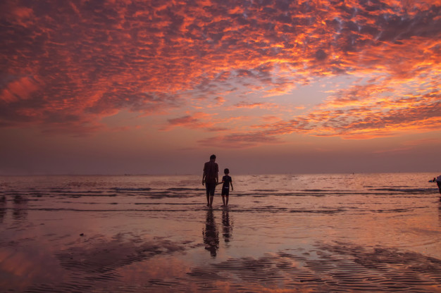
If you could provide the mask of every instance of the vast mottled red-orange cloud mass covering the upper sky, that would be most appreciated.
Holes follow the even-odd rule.
[[[0,127],[93,132],[123,110],[203,108],[195,100],[216,108],[235,94],[277,96],[343,75],[375,78],[330,92],[311,113],[223,139],[375,137],[441,125],[440,1],[6,0],[0,8]],[[166,129],[216,124],[182,113]]]

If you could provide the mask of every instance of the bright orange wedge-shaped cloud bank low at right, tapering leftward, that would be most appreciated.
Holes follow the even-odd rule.
[[[436,95],[439,96],[439,95]],[[302,133],[317,136],[340,136],[347,139],[366,139],[392,136],[399,132],[439,129],[441,100],[424,99],[408,106],[407,101],[378,103],[376,107],[349,107],[339,110],[316,110],[293,120],[267,125],[255,125],[267,135]],[[402,106],[404,104],[405,106]]]

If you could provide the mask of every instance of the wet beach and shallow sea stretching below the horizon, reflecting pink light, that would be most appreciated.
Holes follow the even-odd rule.
[[[435,175],[0,177],[0,291],[441,292]]]

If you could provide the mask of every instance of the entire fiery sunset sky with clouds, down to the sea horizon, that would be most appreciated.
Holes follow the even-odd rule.
[[[441,0],[3,0],[0,41],[0,175],[441,172]]]

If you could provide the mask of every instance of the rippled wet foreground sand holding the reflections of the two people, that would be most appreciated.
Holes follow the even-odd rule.
[[[375,241],[351,241],[351,236],[326,239],[331,231],[324,226],[308,232],[298,225],[298,233],[295,228],[283,233],[268,218],[256,223],[258,219],[246,220],[234,208],[197,213],[199,219],[194,213],[108,218],[106,213],[40,212],[21,223],[13,213],[17,222],[6,228],[1,239],[1,288],[3,292],[441,292],[438,257]],[[280,215],[274,220],[283,219],[306,220]]]

